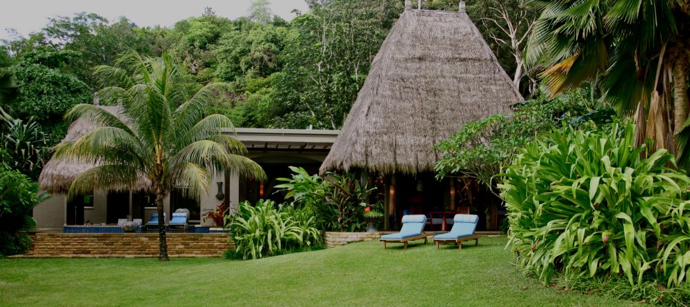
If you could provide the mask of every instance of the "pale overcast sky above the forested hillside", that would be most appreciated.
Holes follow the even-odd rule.
[[[72,16],[75,12],[95,12],[108,20],[125,16],[137,26],[172,26],[187,17],[200,16],[211,7],[216,15],[235,19],[246,16],[252,0],[10,0],[0,10],[0,39],[9,39],[8,28],[23,36],[41,30],[48,18]],[[273,14],[293,19],[293,9],[306,12],[304,0],[271,0]]]

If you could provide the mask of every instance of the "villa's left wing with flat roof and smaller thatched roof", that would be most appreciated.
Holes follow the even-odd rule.
[[[119,106],[101,108],[121,116]],[[94,127],[95,123],[78,119],[72,123],[63,141],[76,141]],[[242,201],[255,202],[260,198],[273,197],[282,201],[282,195],[273,194],[273,186],[277,184],[275,179],[289,177],[288,166],[317,172],[338,131],[237,128],[224,133],[244,143],[247,157],[264,168],[268,180],[258,182],[253,178],[239,178],[233,172],[223,172],[213,178],[208,195],[198,202],[186,197],[184,187],[179,187],[164,199],[167,220],[171,212],[186,208],[190,211],[190,224],[213,226],[213,221],[204,219],[204,215],[215,210],[221,202],[237,208]],[[135,187],[123,187],[119,191],[94,190],[90,195],[80,195],[68,201],[66,194],[72,180],[92,166],[68,159],[51,159],[46,164],[39,181],[41,188],[50,192],[52,197],[34,208],[33,216],[39,230],[60,231],[66,225],[117,224],[117,220],[123,218],[148,221],[156,212],[155,197],[147,192],[144,180]]]

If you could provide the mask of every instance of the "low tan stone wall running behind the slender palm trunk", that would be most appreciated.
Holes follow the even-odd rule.
[[[23,257],[157,257],[157,233],[38,232]],[[170,257],[219,257],[235,248],[226,234],[168,233]]]

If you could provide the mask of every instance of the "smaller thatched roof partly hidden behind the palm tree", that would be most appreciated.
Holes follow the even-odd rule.
[[[117,117],[124,117],[121,106],[100,106],[100,108],[103,108],[103,110]],[[67,135],[62,141],[77,141],[82,135],[86,135],[87,132],[97,127],[98,124],[93,121],[88,119],[77,119],[70,125],[70,128],[67,130]],[[92,161],[79,161],[77,159],[65,158],[57,159],[53,157],[41,171],[41,177],[39,177],[41,189],[51,193],[66,193],[70,189],[72,181],[77,178],[79,174],[95,166],[97,166],[97,164]],[[150,182],[144,177],[141,177],[136,186],[122,186],[116,188],[116,190],[130,190],[130,188],[132,188],[132,190],[148,190],[150,188]]]

